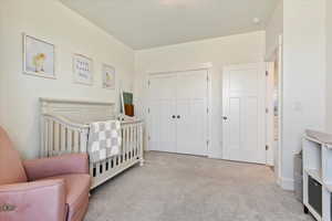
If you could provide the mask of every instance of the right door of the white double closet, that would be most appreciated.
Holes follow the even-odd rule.
[[[177,74],[177,152],[207,155],[207,70]]]

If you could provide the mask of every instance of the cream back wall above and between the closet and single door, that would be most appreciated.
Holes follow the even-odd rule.
[[[263,31],[196,41],[136,52],[136,105],[146,107],[147,72],[184,70],[196,64],[212,63],[212,125],[211,151],[221,157],[221,70],[226,64],[262,62],[264,57]],[[139,109],[142,116],[146,108]]]

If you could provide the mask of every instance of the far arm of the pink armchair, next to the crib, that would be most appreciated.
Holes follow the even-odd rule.
[[[71,154],[60,157],[25,160],[23,165],[29,180],[70,173],[89,173],[86,154]]]

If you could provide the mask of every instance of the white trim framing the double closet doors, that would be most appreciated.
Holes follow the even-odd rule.
[[[214,148],[214,137],[212,137],[212,97],[211,97],[211,82],[212,82],[212,64],[211,63],[201,63],[201,64],[193,64],[188,65],[187,67],[175,67],[175,69],[166,69],[164,71],[148,71],[147,73],[147,78],[146,78],[146,92],[147,92],[147,97],[149,97],[149,81],[153,76],[155,75],[164,75],[164,74],[173,74],[173,73],[181,73],[181,72],[188,72],[188,71],[200,71],[205,70],[207,71],[207,157],[209,158],[218,158],[219,156],[214,156],[211,149]],[[151,150],[149,147],[149,108],[151,108],[151,101],[148,98],[147,101],[147,107],[145,108],[146,110],[146,135],[145,135],[145,140],[146,140],[146,150]],[[218,141],[216,141],[218,144]]]

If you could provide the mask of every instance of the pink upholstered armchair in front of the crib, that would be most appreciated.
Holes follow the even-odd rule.
[[[0,127],[1,221],[82,221],[90,186],[86,155],[22,161]]]

